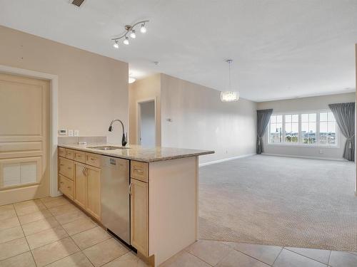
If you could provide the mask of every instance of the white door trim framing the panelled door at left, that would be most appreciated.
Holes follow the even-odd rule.
[[[49,192],[51,197],[61,194],[57,183],[57,129],[58,129],[58,103],[59,103],[59,76],[49,73],[40,73],[23,68],[13,68],[0,65],[1,73],[23,75],[50,81],[50,130],[49,130]]]

